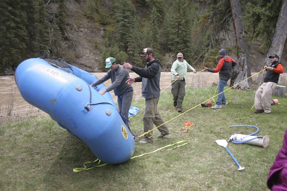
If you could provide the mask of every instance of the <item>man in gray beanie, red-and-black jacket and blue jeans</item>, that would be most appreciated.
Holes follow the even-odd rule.
[[[217,88],[217,93],[219,95],[216,100],[216,105],[211,107],[212,109],[221,109],[222,108],[221,105],[227,105],[223,89],[231,77],[232,67],[234,67],[237,64],[235,60],[233,60],[229,56],[226,56],[226,51],[223,48],[218,52],[218,54],[219,54],[220,60],[216,68],[211,69],[211,68],[204,67],[203,69],[204,71],[207,70],[208,72],[213,72],[213,73],[219,72],[219,82],[218,82],[218,88]]]

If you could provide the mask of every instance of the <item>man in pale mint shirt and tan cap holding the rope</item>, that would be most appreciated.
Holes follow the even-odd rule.
[[[172,72],[171,82],[173,82],[171,84],[173,108],[178,112],[182,111],[182,102],[185,96],[185,80],[187,80],[187,69],[196,73],[196,70],[183,59],[183,54],[178,53],[177,60],[173,62],[170,70]]]

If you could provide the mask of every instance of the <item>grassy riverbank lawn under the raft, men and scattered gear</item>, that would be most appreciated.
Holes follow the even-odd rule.
[[[215,89],[187,87],[183,111],[213,97]],[[82,172],[73,172],[73,168],[83,168],[84,162],[96,159],[95,155],[49,115],[1,124],[0,190],[268,190],[269,169],[286,131],[287,104],[286,98],[272,97],[280,105],[272,105],[271,114],[255,114],[251,108],[256,90],[227,90],[228,105],[222,109],[199,106],[179,117],[180,113],[172,109],[172,94],[164,92],[158,110],[165,121],[177,117],[167,123],[171,134],[156,138],[159,132],[154,130],[154,143],[136,143],[133,156],[181,140],[188,140],[188,144]],[[133,100],[132,106],[142,108],[144,100]],[[136,136],[143,133],[142,115],[140,112],[131,119]],[[188,133],[177,132],[185,129],[185,121],[194,126]],[[228,143],[230,152],[245,167],[243,171],[237,170],[228,152],[215,140],[227,140],[234,132],[248,135],[256,129],[230,125],[255,125],[259,128],[257,136],[270,138],[267,148]]]

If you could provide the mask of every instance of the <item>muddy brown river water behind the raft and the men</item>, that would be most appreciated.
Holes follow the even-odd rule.
[[[106,74],[105,72],[92,73],[97,78],[101,78]],[[213,83],[218,83],[219,76],[218,73],[211,72],[188,72],[188,80],[186,81],[186,86],[193,87],[205,87],[211,86]],[[130,72],[131,77],[137,77],[138,75],[134,72]],[[280,76],[281,77],[281,76]],[[171,72],[162,72],[160,79],[160,88],[164,91],[170,91],[172,73]],[[254,79],[257,77],[255,76]],[[106,86],[111,84],[111,81],[108,80],[104,82]],[[133,83],[134,94],[133,99],[141,99],[141,82]],[[22,118],[22,117],[31,117],[44,113],[38,108],[30,105],[26,102],[15,83],[15,76],[0,76],[0,86],[1,86],[1,99],[0,99],[0,123],[7,120]],[[111,91],[111,95],[115,102],[117,102],[117,97],[114,95],[114,92]]]

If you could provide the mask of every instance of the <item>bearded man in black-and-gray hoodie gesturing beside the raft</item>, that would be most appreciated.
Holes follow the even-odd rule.
[[[129,78],[126,82],[130,85],[133,82],[142,82],[141,84],[141,93],[143,98],[145,98],[145,111],[144,111],[144,132],[148,132],[153,129],[154,125],[158,127],[157,129],[161,134],[158,137],[164,137],[165,135],[170,134],[170,131],[162,116],[158,113],[157,105],[160,97],[160,60],[154,58],[154,50],[151,48],[145,48],[141,53],[142,58],[147,65],[145,68],[139,68],[136,66],[132,66],[129,63],[124,63],[124,69],[130,69],[139,75],[137,78]],[[153,143],[152,131],[147,133],[143,140],[139,141],[139,143]]]

